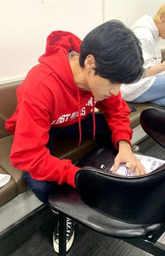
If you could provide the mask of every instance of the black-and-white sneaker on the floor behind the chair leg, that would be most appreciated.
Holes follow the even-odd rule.
[[[74,221],[66,217],[66,252],[71,248],[74,239]],[[59,253],[59,223],[53,232],[53,247]]]

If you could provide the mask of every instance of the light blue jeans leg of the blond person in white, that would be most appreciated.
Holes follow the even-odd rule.
[[[131,102],[152,102],[165,107],[165,75],[157,76],[152,86],[145,93]]]

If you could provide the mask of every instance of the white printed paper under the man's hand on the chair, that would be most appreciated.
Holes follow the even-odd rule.
[[[164,160],[156,159],[155,157],[151,156],[143,156],[139,154],[135,154],[135,156],[141,161],[147,173],[151,173],[153,170],[159,168],[160,166],[162,166],[162,164],[165,163]],[[112,169],[113,167],[110,170]],[[131,172],[126,168],[125,163],[120,164],[120,167],[115,173],[124,176],[136,176],[135,172]]]

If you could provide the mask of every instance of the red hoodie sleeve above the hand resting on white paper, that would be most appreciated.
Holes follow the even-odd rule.
[[[112,132],[112,141],[118,149],[118,142],[126,140],[131,144],[132,130],[130,128],[129,115],[131,114],[129,107],[121,97],[121,93],[117,96],[111,96],[108,100],[96,103],[96,107],[103,112],[108,127]]]

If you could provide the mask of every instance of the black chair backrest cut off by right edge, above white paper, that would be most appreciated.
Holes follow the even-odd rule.
[[[165,109],[150,107],[141,112],[140,122],[145,133],[165,148]]]

